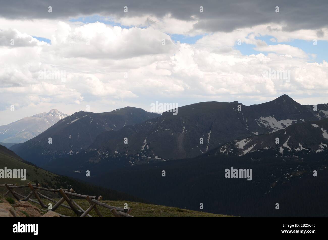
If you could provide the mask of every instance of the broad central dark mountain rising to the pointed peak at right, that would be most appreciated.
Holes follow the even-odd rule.
[[[192,158],[226,142],[318,120],[318,111],[323,112],[326,107],[318,105],[317,111],[313,111],[287,95],[252,106],[238,102],[196,103],[178,108],[176,115],[164,112],[144,123],[100,134],[90,148],[80,154],[79,160],[74,160],[75,166],[99,162],[126,166]],[[124,138],[128,139],[127,144]]]

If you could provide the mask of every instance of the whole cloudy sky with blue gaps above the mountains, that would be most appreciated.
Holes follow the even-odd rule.
[[[0,125],[86,105],[328,103],[326,0],[0,5]]]

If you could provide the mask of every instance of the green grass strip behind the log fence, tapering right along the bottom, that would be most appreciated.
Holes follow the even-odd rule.
[[[56,201],[58,200],[59,199],[56,199]],[[42,201],[46,206],[48,206],[48,203],[51,203],[47,199],[42,199]],[[74,199],[74,201],[84,210],[86,210],[90,206],[87,200],[84,199]],[[203,211],[193,211],[187,209],[137,203],[137,202],[127,202],[127,201],[102,201],[102,202],[111,206],[122,207],[122,208],[124,207],[124,203],[127,203],[128,207],[132,209],[130,215],[134,217],[233,217],[223,214],[213,214]],[[36,203],[31,203],[31,204],[40,207],[40,205]],[[64,202],[64,204],[68,205],[66,202]],[[52,203],[52,206],[53,205],[54,203]],[[113,217],[113,214],[109,209],[104,208],[102,206],[97,206],[97,208],[99,209],[99,211],[102,213],[104,217]],[[58,209],[56,209],[56,212],[63,215],[76,217],[75,213],[72,210],[64,207],[59,207]],[[90,215],[92,217],[98,217],[97,213],[94,210],[90,212]]]

